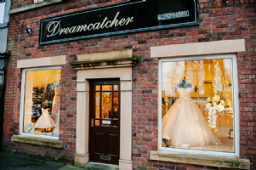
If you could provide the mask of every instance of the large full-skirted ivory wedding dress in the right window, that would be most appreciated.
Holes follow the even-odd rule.
[[[168,135],[172,145],[202,146],[217,142],[202,111],[191,99],[192,88],[179,88],[179,99],[162,118],[162,137]]]

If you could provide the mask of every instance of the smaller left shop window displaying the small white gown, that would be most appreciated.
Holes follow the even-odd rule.
[[[60,68],[23,71],[21,133],[59,137]]]

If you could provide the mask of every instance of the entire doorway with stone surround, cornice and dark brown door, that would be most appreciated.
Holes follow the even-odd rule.
[[[106,66],[106,60],[116,64]],[[125,49],[78,54],[77,61],[71,62],[77,70],[77,167],[96,161],[133,168],[132,66],[136,61],[133,51]],[[91,69],[88,63],[97,66]]]

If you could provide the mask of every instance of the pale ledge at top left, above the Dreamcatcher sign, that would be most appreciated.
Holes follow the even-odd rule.
[[[50,4],[54,4],[54,3],[61,3],[62,0],[48,0],[48,1],[43,1],[41,3],[31,3],[30,5],[27,5],[25,7],[20,7],[20,8],[14,8],[9,10],[9,14],[17,14],[17,13],[21,13],[33,8],[40,8],[46,5],[50,5]]]

